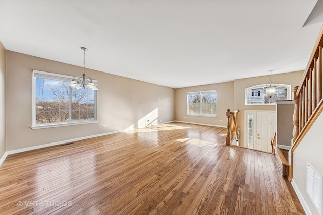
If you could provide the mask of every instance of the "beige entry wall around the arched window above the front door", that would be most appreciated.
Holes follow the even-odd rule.
[[[272,75],[272,80],[276,84],[291,85],[291,91],[294,86],[299,85],[304,71],[294,71],[292,73],[284,73]],[[255,85],[269,83],[270,76],[261,76],[247,79],[234,80],[234,109],[239,109],[239,127],[240,127],[240,145],[244,146],[244,110],[276,110],[275,105],[245,105],[245,89]],[[292,119],[291,119],[292,120]],[[291,121],[292,123],[292,121]]]

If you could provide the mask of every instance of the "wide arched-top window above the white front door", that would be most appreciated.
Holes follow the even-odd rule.
[[[270,98],[266,96],[266,84],[256,85],[246,89],[245,104],[246,105],[268,105],[274,104],[276,100],[290,100],[291,86],[278,84],[275,94]]]

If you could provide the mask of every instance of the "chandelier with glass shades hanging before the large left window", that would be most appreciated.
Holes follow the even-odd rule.
[[[84,47],[81,47],[81,49],[83,50],[83,75],[74,76],[72,81],[69,82],[68,86],[74,89],[88,88],[91,90],[99,90],[97,89],[97,86],[94,85],[92,79],[85,75],[85,51],[87,51],[87,49]]]

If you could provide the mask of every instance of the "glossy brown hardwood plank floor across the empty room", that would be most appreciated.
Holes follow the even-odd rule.
[[[274,155],[225,137],[171,123],[9,155],[0,213],[305,214]]]

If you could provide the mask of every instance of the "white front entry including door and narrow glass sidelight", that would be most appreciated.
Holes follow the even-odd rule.
[[[271,152],[276,131],[276,111],[245,111],[245,147]]]

